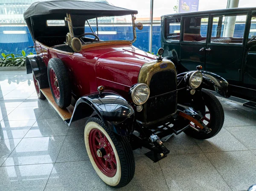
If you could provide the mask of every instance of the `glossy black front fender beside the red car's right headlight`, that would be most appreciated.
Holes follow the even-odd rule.
[[[188,72],[183,72],[181,74],[178,74],[177,75],[178,83],[181,82],[181,80],[183,80],[183,77],[189,72],[194,72],[194,71],[188,71]],[[230,97],[230,90],[229,90],[230,86],[227,80],[209,71],[201,71],[201,72],[203,74],[203,81],[200,85],[201,88],[206,88],[206,89],[216,91],[218,94],[220,94],[223,97]]]

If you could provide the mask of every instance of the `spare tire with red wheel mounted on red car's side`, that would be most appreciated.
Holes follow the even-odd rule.
[[[49,86],[55,103],[66,108],[71,103],[71,87],[67,68],[59,58],[52,58],[47,66]]]

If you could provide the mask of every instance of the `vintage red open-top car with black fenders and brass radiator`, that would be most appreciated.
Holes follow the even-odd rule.
[[[158,161],[170,152],[163,142],[173,133],[196,139],[218,134],[223,108],[202,88],[229,97],[227,81],[201,66],[177,75],[161,56],[163,48],[157,57],[132,46],[136,28],[143,28],[135,14],[64,0],[33,3],[24,13],[37,52],[26,58],[26,68],[38,97],[47,98],[68,125],[87,117],[87,154],[99,177],[117,188],[134,176],[134,149],[148,148],[146,156]],[[119,16],[131,24],[120,34],[106,31]],[[101,39],[107,32],[109,39]]]

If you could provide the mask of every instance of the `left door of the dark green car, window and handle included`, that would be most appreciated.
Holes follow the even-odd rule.
[[[195,70],[198,65],[205,68],[208,21],[209,14],[182,17],[180,63],[187,70]]]

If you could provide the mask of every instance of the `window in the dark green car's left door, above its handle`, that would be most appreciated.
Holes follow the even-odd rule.
[[[183,41],[206,42],[208,17],[188,17],[184,19]]]

